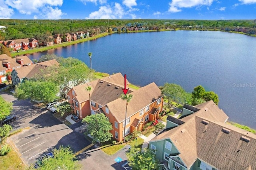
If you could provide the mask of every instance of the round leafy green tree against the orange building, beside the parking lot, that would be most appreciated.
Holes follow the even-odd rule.
[[[83,118],[82,123],[86,123],[86,131],[84,134],[90,134],[94,142],[106,142],[113,137],[110,133],[113,129],[112,125],[103,113],[86,116]]]

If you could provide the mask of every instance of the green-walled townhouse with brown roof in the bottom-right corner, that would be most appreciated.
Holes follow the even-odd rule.
[[[256,170],[256,135],[226,123],[213,101],[184,105],[182,117],[149,142],[160,170]]]

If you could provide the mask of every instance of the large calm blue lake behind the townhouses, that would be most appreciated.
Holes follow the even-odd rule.
[[[164,31],[113,34],[46,53],[76,57],[109,74],[121,72],[139,86],[198,85],[219,96],[219,107],[236,121],[256,129],[256,37],[213,31]]]

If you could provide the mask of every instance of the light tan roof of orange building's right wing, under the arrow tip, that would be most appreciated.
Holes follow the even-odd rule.
[[[132,100],[128,103],[127,107],[127,117],[132,116],[133,114],[137,113],[144,107],[148,106],[152,103],[152,101],[161,97],[161,90],[156,86],[153,82],[131,92],[130,94],[133,95]],[[107,104],[111,113],[115,116],[116,120],[121,123],[125,119],[125,111],[126,111],[126,101],[121,100],[120,98],[114,100]]]

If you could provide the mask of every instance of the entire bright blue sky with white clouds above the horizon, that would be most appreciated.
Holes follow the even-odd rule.
[[[256,19],[256,0],[0,0],[1,19]]]

